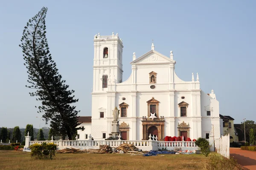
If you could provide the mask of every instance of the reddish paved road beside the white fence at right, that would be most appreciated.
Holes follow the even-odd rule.
[[[230,156],[233,156],[237,163],[249,170],[256,170],[256,151],[240,150],[230,147]]]

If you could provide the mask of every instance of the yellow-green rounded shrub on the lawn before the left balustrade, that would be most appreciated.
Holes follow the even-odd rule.
[[[54,143],[43,142],[42,144],[32,144],[29,148],[31,150],[32,157],[52,159],[52,157],[55,156],[57,145]]]

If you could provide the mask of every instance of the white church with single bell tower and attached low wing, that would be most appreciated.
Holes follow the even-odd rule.
[[[122,39],[118,34],[94,36],[92,116],[81,116],[79,140],[104,140],[111,133],[112,110],[119,111],[123,140],[148,140],[149,134],[197,139],[220,137],[219,102],[214,91],[200,89],[198,73],[183,81],[170,56],[151,50],[131,61],[131,76],[122,80]]]

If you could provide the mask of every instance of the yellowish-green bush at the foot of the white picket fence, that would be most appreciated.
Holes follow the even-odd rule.
[[[210,159],[205,164],[207,170],[242,170],[233,157],[228,159],[218,153],[212,153],[209,157]]]

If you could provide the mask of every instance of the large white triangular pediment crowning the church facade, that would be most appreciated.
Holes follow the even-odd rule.
[[[171,58],[160,54],[155,50],[150,50],[144,55],[140,56],[136,60],[132,61],[131,64],[149,64],[149,63],[175,63]]]

